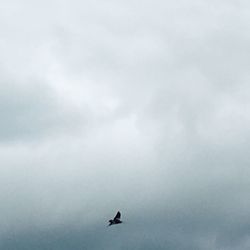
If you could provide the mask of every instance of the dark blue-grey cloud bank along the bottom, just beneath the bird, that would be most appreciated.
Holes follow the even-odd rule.
[[[180,212],[180,211],[178,211]],[[182,211],[184,212],[184,211]],[[159,217],[160,216],[160,217]],[[84,218],[82,218],[84,220]],[[205,225],[205,226],[204,226]],[[216,225],[216,227],[215,227]],[[237,224],[223,225],[219,218],[205,218],[204,214],[168,211],[154,218],[133,218],[123,227],[105,228],[103,224],[90,228],[64,226],[40,230],[33,228],[20,234],[12,233],[1,241],[2,247],[11,249],[247,249],[249,227],[239,230]],[[244,228],[245,227],[245,228]],[[226,236],[224,233],[226,233]],[[240,232],[240,234],[238,234]],[[238,235],[237,235],[238,234]]]

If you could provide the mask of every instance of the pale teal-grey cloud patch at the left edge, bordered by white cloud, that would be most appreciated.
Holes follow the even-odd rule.
[[[73,127],[80,129],[84,126],[82,115],[73,108],[60,105],[60,99],[56,99],[46,85],[32,79],[28,83],[15,81],[4,79],[1,85],[2,143],[33,140],[56,131],[65,133]]]

